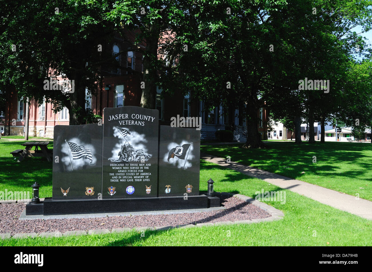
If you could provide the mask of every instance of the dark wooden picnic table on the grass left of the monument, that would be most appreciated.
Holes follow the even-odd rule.
[[[18,163],[23,161],[25,157],[45,157],[48,161],[52,161],[53,150],[48,149],[48,144],[49,142],[47,141],[25,142],[22,144],[25,146],[25,149],[17,149],[10,152],[10,154],[13,157],[18,157]],[[35,150],[31,150],[32,147],[35,147]]]

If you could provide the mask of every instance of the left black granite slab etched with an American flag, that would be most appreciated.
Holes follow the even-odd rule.
[[[97,199],[102,194],[103,126],[56,125],[53,200]]]

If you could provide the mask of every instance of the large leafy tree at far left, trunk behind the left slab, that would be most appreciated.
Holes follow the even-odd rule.
[[[6,1],[1,1],[1,5]],[[115,65],[105,46],[114,24],[106,19],[106,0],[27,0],[13,4],[1,17],[1,79],[18,97],[45,97],[54,110],[66,106],[70,124],[84,124],[85,90],[97,90],[102,66]],[[12,45],[16,50],[11,50]],[[101,46],[101,50],[100,47]],[[44,81],[62,75],[74,90],[45,90]]]

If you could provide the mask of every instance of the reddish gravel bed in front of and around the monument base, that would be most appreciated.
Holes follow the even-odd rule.
[[[113,216],[78,219],[36,219],[18,220],[25,210],[25,203],[0,204],[0,233],[42,233],[66,232],[74,230],[88,231],[90,229],[115,229],[134,227],[157,227],[196,225],[199,223],[217,223],[222,221],[252,220],[270,217],[271,215],[253,204],[237,197],[222,196],[222,206],[225,210],[210,212],[157,214],[137,216]]]

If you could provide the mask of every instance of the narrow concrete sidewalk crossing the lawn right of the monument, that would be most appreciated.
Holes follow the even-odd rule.
[[[357,199],[356,196],[350,196],[349,194],[343,194],[301,180],[295,180],[293,178],[280,176],[278,174],[246,166],[244,164],[234,162],[227,163],[226,159],[214,157],[213,155],[200,153],[200,158],[246,174],[247,176],[260,178],[270,184],[310,197],[311,199],[336,209],[372,220],[372,201],[361,198]]]

